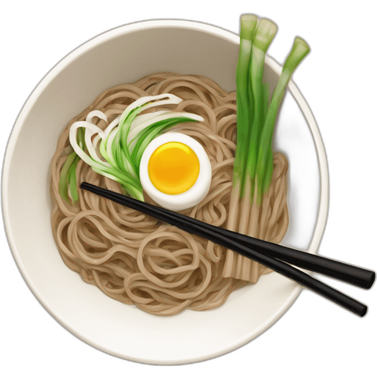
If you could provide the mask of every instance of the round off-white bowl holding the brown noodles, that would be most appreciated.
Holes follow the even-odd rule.
[[[271,273],[232,293],[217,309],[152,316],[85,284],[64,265],[51,232],[49,164],[58,136],[73,116],[108,87],[152,72],[200,74],[235,89],[238,46],[236,34],[198,22],[153,20],[118,27],[62,59],[34,89],[16,120],[2,176],[3,218],[13,257],[51,316],[98,350],[148,364],[207,360],[262,334],[301,292],[296,283]],[[275,84],[281,66],[270,57],[266,65],[266,79]],[[308,248],[316,253],[328,212],[327,162],[308,104],[294,82],[289,90],[313,137],[320,171],[318,213]]]

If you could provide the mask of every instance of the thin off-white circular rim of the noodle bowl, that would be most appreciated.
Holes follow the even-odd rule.
[[[64,323],[64,321],[60,320],[60,318],[58,318],[58,316],[55,313],[52,313],[50,311],[48,302],[45,302],[43,297],[39,295],[38,290],[36,289],[32,281],[28,277],[28,273],[26,269],[24,268],[24,265],[18,254],[16,242],[12,236],[12,230],[9,227],[10,219],[9,219],[9,208],[8,208],[8,200],[9,200],[8,183],[9,183],[9,173],[10,173],[10,162],[13,157],[17,138],[22,130],[22,126],[25,122],[25,119],[27,118],[28,113],[33,108],[36,100],[41,95],[43,90],[49,85],[51,81],[54,80],[54,78],[59,74],[59,72],[62,69],[64,69],[64,67],[71,64],[75,59],[77,59],[82,54],[86,53],[87,51],[115,37],[132,33],[132,32],[137,32],[144,29],[177,28],[177,27],[187,28],[187,29],[191,29],[195,31],[202,31],[205,33],[213,34],[216,37],[220,37],[229,42],[239,44],[239,34],[236,34],[230,30],[226,30],[226,29],[223,29],[221,27],[217,27],[211,24],[206,24],[204,22],[181,20],[181,19],[156,19],[156,20],[138,21],[138,22],[122,25],[119,27],[114,27],[108,31],[105,31],[89,39],[87,42],[84,42],[83,44],[81,44],[79,47],[77,47],[72,52],[70,52],[65,57],[63,57],[58,63],[56,63],[55,66],[42,78],[42,80],[36,85],[36,87],[28,96],[25,104],[23,105],[21,111],[19,112],[16,118],[16,121],[11,130],[10,136],[8,138],[6,149],[5,149],[5,154],[4,154],[3,166],[2,166],[2,175],[1,175],[1,207],[2,207],[2,216],[4,220],[4,229],[5,229],[5,234],[7,237],[8,244],[9,244],[9,248],[11,250],[11,253],[13,255],[13,258],[16,262],[17,267],[19,271],[21,272],[22,277],[24,278],[25,282],[27,283],[28,288],[30,289],[32,294],[36,297],[38,302],[60,325],[62,325],[64,328],[69,329],[69,331],[72,334],[74,334],[76,337],[78,337],[80,340],[82,340],[86,344],[98,350],[102,350],[113,356],[122,357],[124,359],[135,361],[135,362],[152,363],[155,365],[156,364],[164,364],[164,365],[177,364],[177,362],[175,360],[172,363],[168,363],[165,361],[162,363],[158,363],[156,362],[156,360],[152,361],[152,360],[143,360],[141,358],[138,358],[138,359],[130,358],[127,355],[120,355],[120,354],[114,353],[110,350],[105,349],[102,346],[93,345],[88,339],[85,339],[81,334],[78,334],[75,331],[72,331],[72,329],[69,328],[69,326],[66,323]],[[280,75],[282,71],[282,66],[279,63],[277,63],[269,55],[266,56],[265,61],[275,73]],[[328,209],[329,209],[329,173],[328,173],[327,157],[326,157],[326,152],[323,145],[323,140],[322,140],[317,122],[314,118],[314,115],[294,81],[291,80],[289,82],[288,90],[294,97],[295,102],[297,103],[297,106],[300,108],[300,111],[307,122],[309,131],[313,138],[315,150],[316,150],[316,156],[317,156],[317,162],[318,162],[318,168],[319,168],[319,193],[318,193],[316,220],[313,227],[314,232],[309,242],[308,252],[318,253],[318,249],[322,241],[325,226],[326,226],[327,217],[328,217]],[[296,301],[301,291],[302,291],[302,287],[297,285],[297,287],[293,290],[292,294],[290,295],[289,299],[286,301],[285,305],[283,305],[279,311],[275,312],[275,314],[270,318],[269,322],[263,323],[262,326],[256,329],[253,332],[253,336],[243,337],[238,342],[236,342],[236,344],[228,345],[227,348],[224,349],[221,353],[217,351],[217,352],[213,352],[212,354],[205,354],[200,358],[196,357],[190,360],[185,359],[185,360],[182,360],[182,363],[184,364],[195,363],[195,362],[200,362],[200,361],[208,360],[211,358],[215,358],[215,357],[224,355],[226,353],[229,353],[233,350],[239,349],[245,344],[251,342],[252,340],[257,338],[259,335],[261,335],[263,332],[265,332],[267,329],[269,329],[288,311],[288,309]]]

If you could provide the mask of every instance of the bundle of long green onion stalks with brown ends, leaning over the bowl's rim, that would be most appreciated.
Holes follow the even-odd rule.
[[[263,74],[265,56],[276,33],[277,26],[269,19],[258,22],[257,16],[251,14],[243,14],[240,18],[236,77],[237,147],[227,227],[253,237],[257,235],[263,198],[271,184],[271,143],[277,111],[293,73],[310,52],[308,44],[296,37],[269,102],[269,86],[263,82]],[[223,276],[231,276],[233,257],[228,250]],[[252,268],[250,263],[243,258],[242,269],[246,274]],[[241,264],[240,259],[238,264]]]

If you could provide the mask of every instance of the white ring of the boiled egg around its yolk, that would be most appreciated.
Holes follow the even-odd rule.
[[[153,152],[160,145],[171,141],[188,145],[199,160],[199,175],[196,182],[187,191],[174,195],[166,194],[155,188],[148,174],[148,163]],[[212,167],[206,151],[199,142],[185,134],[167,132],[157,136],[145,148],[140,161],[139,174],[141,186],[151,199],[163,208],[179,212],[194,207],[206,197],[211,186]]]

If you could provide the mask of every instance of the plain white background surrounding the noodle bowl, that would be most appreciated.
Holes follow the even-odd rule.
[[[139,11],[135,11],[137,6],[141,7]],[[199,10],[199,5],[190,5],[189,9],[187,4],[183,6],[184,10],[175,12],[166,10],[167,3],[155,2],[153,9],[139,3],[134,10],[125,2],[101,4],[98,8],[92,5],[91,10],[56,7],[48,13],[24,8],[22,15],[18,14],[17,22],[4,28],[3,32],[2,60],[6,71],[2,91],[8,94],[3,100],[4,123],[1,129],[6,134],[4,142],[38,82],[60,59],[99,33],[130,22],[158,18],[201,21],[238,33],[241,13],[268,17],[279,26],[269,49],[269,54],[279,63],[284,61],[296,35],[303,37],[312,49],[295,73],[294,81],[317,120],[329,164],[330,210],[320,253],[376,270],[376,246],[371,244],[376,223],[372,196],[372,177],[375,175],[372,132],[375,122],[370,120],[375,109],[369,99],[375,77],[372,77],[374,60],[371,56],[373,30],[368,26],[368,16],[365,12],[328,10],[317,5],[315,9],[308,7],[305,11],[305,5],[297,9],[257,5],[245,6],[241,10],[228,9],[228,5],[216,11]],[[292,100],[287,98],[287,107],[291,106],[290,102]],[[292,110],[282,113],[282,130],[303,122],[293,103],[291,107]],[[281,133],[284,140],[284,131]],[[285,147],[299,146],[301,137],[309,136],[302,134],[296,139],[285,140]],[[303,166],[315,164],[313,153],[301,151],[298,154]],[[299,170],[292,171],[292,174],[300,180]],[[315,179],[306,182],[305,190],[315,191],[317,185]],[[297,186],[298,203],[305,192]],[[300,211],[306,214],[306,225],[303,221],[295,242],[304,246],[314,212],[310,206]],[[367,217],[369,211],[371,214]],[[3,344],[9,356],[21,355],[25,363],[32,363],[28,365],[40,372],[47,371],[42,360],[52,363],[54,370],[71,372],[75,368],[99,372],[101,366],[109,373],[111,370],[121,372],[122,368],[125,368],[122,372],[127,373],[126,368],[130,366],[137,366],[144,372],[151,367],[105,354],[70,334],[31,294],[7,244],[3,253],[6,258],[2,283],[2,311],[6,317]],[[350,364],[372,365],[366,351],[373,346],[376,334],[376,288],[362,291],[334,281],[327,282],[369,305],[367,317],[359,319],[312,293],[303,292],[275,325],[248,345],[213,360],[187,365],[185,369],[190,371],[206,366],[216,370],[223,366],[237,366],[252,373],[258,363],[264,371],[278,366],[288,373],[289,370],[300,373],[301,359],[305,362],[305,370],[322,370],[327,360],[334,360],[331,364],[334,370]],[[77,361],[77,367],[73,367],[71,360]]]

